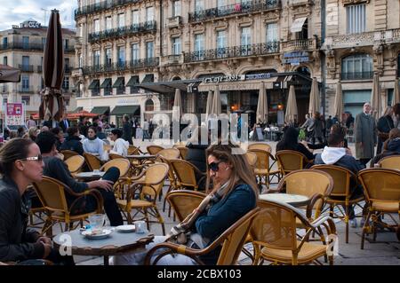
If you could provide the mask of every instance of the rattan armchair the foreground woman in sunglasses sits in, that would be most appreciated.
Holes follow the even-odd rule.
[[[230,226],[225,232],[223,232],[220,237],[218,237],[210,245],[203,249],[188,248],[184,245],[178,245],[171,242],[157,244],[155,247],[151,248],[148,251],[148,254],[145,258],[145,264],[156,264],[161,257],[170,254],[187,255],[193,258],[196,263],[204,264],[199,259],[199,255],[206,255],[210,253],[213,249],[222,246],[217,265],[235,265],[237,262],[237,258],[241,253],[247,233],[252,226],[253,219],[258,216],[259,212],[260,208],[252,209],[245,216],[237,220],[236,223]],[[152,256],[160,248],[165,249],[165,251],[161,255],[158,255],[154,262],[151,262]]]

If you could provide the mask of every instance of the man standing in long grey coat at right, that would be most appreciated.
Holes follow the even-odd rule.
[[[356,141],[356,159],[366,165],[374,155],[376,145],[376,123],[371,115],[371,105],[364,104],[363,112],[356,115],[354,123]]]

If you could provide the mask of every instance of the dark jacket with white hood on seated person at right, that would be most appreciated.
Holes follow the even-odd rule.
[[[323,153],[316,154],[315,164],[336,165],[357,174],[364,167],[353,156],[346,154],[344,147],[324,147]]]

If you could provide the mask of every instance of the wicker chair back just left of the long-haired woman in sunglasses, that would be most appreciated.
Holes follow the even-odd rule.
[[[173,211],[175,211],[178,221],[182,222],[186,216],[199,206],[206,196],[205,193],[179,190],[168,193],[165,198],[170,203]]]

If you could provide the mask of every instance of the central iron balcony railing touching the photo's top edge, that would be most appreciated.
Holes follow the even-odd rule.
[[[279,0],[253,0],[249,2],[230,4],[197,12],[189,12],[188,21],[197,22],[212,20],[221,17],[229,17],[238,14],[248,14],[253,12],[263,12],[279,8],[281,8],[281,2]]]

